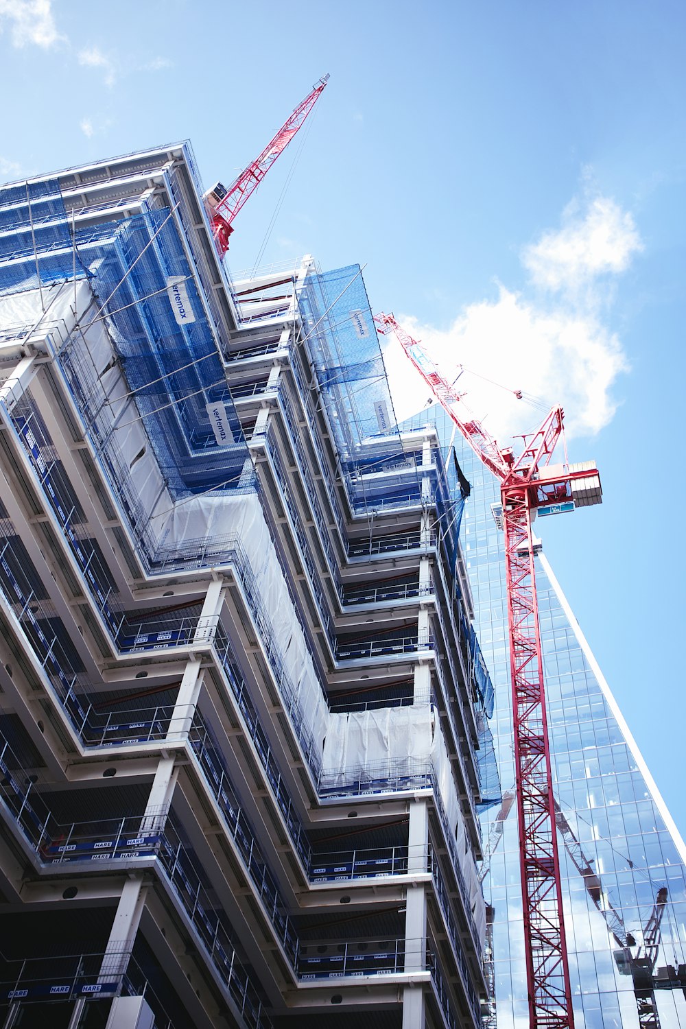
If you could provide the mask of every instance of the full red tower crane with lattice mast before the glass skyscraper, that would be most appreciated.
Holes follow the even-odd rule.
[[[532,521],[537,512],[551,514],[600,503],[600,476],[592,462],[550,465],[563,433],[561,406],[550,411],[536,432],[523,437],[518,457],[511,448],[501,450],[393,315],[378,314],[375,322],[380,332],[395,333],[476,456],[500,481],[530,1027],[573,1029]]]

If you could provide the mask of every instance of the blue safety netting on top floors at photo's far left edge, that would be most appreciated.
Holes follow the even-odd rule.
[[[0,187],[0,296],[83,278],[57,179]]]

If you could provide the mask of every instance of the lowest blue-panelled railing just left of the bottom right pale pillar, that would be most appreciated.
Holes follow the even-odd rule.
[[[397,975],[405,970],[405,941],[301,944],[297,970],[303,982],[347,975]]]

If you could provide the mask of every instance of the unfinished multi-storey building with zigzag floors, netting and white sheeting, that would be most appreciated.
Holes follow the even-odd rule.
[[[0,1025],[478,1026],[491,684],[357,267],[187,146],[0,191]]]

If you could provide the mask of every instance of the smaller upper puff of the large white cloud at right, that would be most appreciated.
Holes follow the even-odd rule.
[[[598,276],[626,271],[641,250],[634,218],[607,197],[571,204],[563,227],[544,233],[523,251],[532,280],[544,289],[578,290]]]

